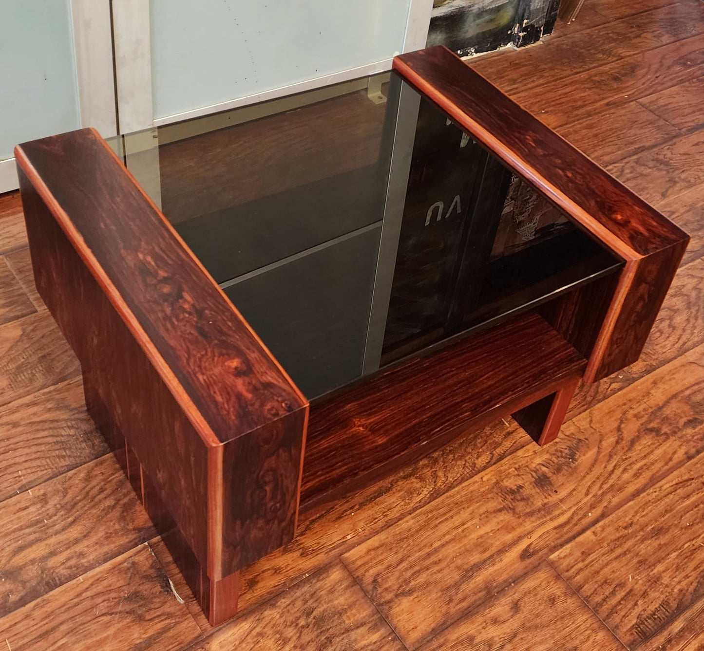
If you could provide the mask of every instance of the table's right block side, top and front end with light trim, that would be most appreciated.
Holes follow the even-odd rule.
[[[626,261],[598,324],[585,379],[635,362],[689,236],[448,49],[396,57],[394,70]]]

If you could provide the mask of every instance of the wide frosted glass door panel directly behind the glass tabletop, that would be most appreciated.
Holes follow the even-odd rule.
[[[154,117],[391,58],[403,49],[409,6],[410,0],[151,0]]]

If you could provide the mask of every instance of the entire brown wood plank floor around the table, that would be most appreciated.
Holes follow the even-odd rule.
[[[498,422],[315,514],[208,626],[85,412],[0,196],[0,651],[704,649],[704,4],[586,0],[470,61],[692,236],[558,441]]]

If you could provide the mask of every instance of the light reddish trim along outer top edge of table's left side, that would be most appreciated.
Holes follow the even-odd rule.
[[[47,208],[54,215],[54,219],[58,223],[59,227],[63,230],[68,240],[72,244],[75,251],[80,255],[87,269],[91,272],[92,276],[96,279],[96,282],[101,286],[103,293],[111,302],[115,310],[120,315],[120,318],[130,332],[134,336],[134,339],[139,342],[142,350],[144,350],[145,355],[149,359],[149,362],[153,365],[158,372],[161,379],[163,379],[166,386],[168,386],[169,391],[171,391],[172,396],[174,396],[177,403],[182,407],[182,410],[187,415],[187,418],[194,426],[194,429],[198,432],[199,436],[208,447],[213,445],[220,445],[218,437],[215,436],[213,429],[210,427],[206,419],[201,414],[200,410],[196,407],[193,400],[191,400],[188,393],[184,390],[180,381],[178,381],[172,369],[166,363],[162,355],[157,350],[156,346],[153,344],[149,336],[147,336],[144,328],[139,323],[139,320],[134,315],[132,310],[125,303],[124,298],[122,298],[120,292],[115,287],[111,281],[108,274],[93,255],[92,251],[86,246],[80,232],[73,225],[70,217],[65,213],[65,210],[59,206],[54,195],[51,194],[49,188],[46,187],[44,180],[39,176],[37,170],[30,162],[29,158],[25,155],[21,145],[15,147],[15,160],[21,170],[27,175],[34,189],[37,190],[37,194],[42,198],[42,201],[46,204]]]

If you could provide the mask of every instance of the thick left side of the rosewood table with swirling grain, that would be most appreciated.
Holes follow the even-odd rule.
[[[37,290],[89,412],[124,436],[218,585],[294,535],[306,400],[94,132],[16,156]]]

